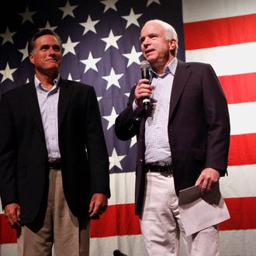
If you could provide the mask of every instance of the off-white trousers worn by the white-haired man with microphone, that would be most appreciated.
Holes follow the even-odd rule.
[[[220,244],[217,227],[206,228],[191,236],[185,235],[172,175],[166,177],[157,172],[148,172],[146,175],[144,212],[140,216],[140,229],[147,255],[179,255],[181,234],[187,255],[219,256]]]

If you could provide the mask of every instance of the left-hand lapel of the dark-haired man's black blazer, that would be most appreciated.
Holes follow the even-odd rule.
[[[24,99],[26,100],[26,103],[29,106],[29,111],[31,112],[33,119],[36,123],[36,126],[38,130],[40,130],[40,133],[43,134],[44,137],[44,132],[43,132],[43,123],[42,123],[42,118],[40,114],[40,106],[38,103],[37,95],[36,95],[36,87],[34,83],[29,83],[25,85],[25,95]]]

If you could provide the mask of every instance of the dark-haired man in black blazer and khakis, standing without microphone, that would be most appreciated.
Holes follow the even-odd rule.
[[[88,255],[89,219],[107,207],[109,156],[92,86],[60,77],[62,43],[29,40],[33,82],[2,95],[0,196],[19,255]],[[21,229],[20,229],[21,227]]]

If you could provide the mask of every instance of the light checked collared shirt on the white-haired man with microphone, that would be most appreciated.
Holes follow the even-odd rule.
[[[171,163],[171,149],[168,140],[168,119],[171,102],[171,88],[178,59],[175,57],[165,68],[164,74],[150,70],[154,90],[150,99],[150,114],[145,123],[145,163]]]

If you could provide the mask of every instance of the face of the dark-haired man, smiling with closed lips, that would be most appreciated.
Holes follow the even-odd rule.
[[[61,46],[52,35],[40,36],[36,39],[36,47],[29,54],[29,60],[41,73],[56,73],[61,67]]]

